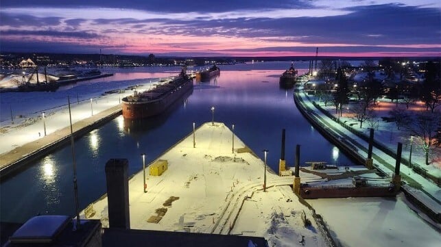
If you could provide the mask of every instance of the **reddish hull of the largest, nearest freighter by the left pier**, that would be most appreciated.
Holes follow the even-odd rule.
[[[175,101],[182,98],[187,92],[193,90],[193,81],[189,80],[180,88],[167,92],[164,96],[154,101],[126,102],[123,101],[123,117],[126,119],[140,119],[156,116],[165,111]]]

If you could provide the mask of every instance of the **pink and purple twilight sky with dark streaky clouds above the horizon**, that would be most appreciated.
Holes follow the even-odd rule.
[[[1,0],[0,52],[441,56],[439,0]]]

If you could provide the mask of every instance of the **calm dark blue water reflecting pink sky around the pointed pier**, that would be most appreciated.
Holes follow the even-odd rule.
[[[142,168],[141,153],[150,162],[169,146],[191,133],[196,126],[210,122],[211,106],[214,119],[231,127],[257,155],[263,159],[263,149],[268,149],[267,164],[278,170],[281,155],[281,132],[286,129],[286,156],[288,166],[294,166],[294,148],[301,144],[300,161],[328,161],[351,164],[338,148],[325,140],[305,120],[293,100],[293,90],[281,89],[278,76],[290,62],[265,62],[220,66],[219,77],[209,82],[195,81],[193,92],[187,99],[176,103],[165,114],[139,121],[126,121],[122,116],[95,129],[75,142],[78,164],[78,192],[80,208],[97,200],[106,192],[104,166],[110,158],[126,158],[129,173]],[[294,64],[302,74],[308,62]],[[175,75],[180,68],[164,73],[152,68],[112,69],[114,77],[78,83],[60,89],[60,93],[75,87],[97,90],[114,89],[119,80]],[[110,88],[112,85],[114,88]],[[55,93],[55,94],[56,94]],[[65,92],[64,92],[65,93]],[[71,146],[36,161],[23,172],[3,181],[0,185],[1,221],[25,222],[40,214],[71,215],[75,213],[73,200],[73,172]]]

